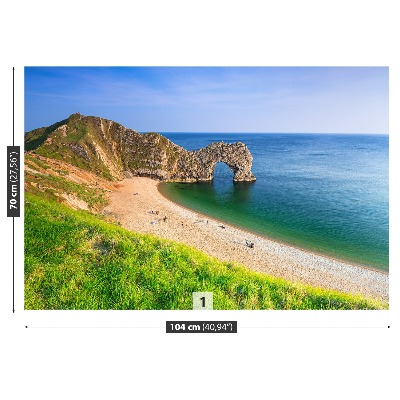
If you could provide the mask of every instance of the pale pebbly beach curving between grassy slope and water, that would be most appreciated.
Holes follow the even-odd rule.
[[[185,243],[257,272],[389,300],[389,276],[385,272],[305,251],[198,214],[166,199],[157,186],[158,181],[144,177],[115,183],[103,213],[125,229]]]

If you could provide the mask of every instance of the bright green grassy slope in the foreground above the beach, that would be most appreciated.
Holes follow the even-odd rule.
[[[220,262],[26,193],[26,309],[191,309],[195,291],[213,292],[223,310],[388,307]]]

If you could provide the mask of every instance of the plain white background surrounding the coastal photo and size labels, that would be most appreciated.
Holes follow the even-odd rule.
[[[1,5],[4,167],[6,146],[12,144],[13,67],[15,145],[22,149],[24,66],[389,66],[391,284],[388,311],[24,311],[22,215],[15,219],[13,313],[12,219],[6,218],[4,172],[0,396],[399,398],[395,207],[400,204],[400,64],[395,4],[70,0]],[[185,319],[237,320],[239,333],[165,333],[166,320]]]

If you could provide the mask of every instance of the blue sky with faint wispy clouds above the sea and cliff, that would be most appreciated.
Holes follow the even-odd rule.
[[[139,132],[389,133],[387,67],[25,67],[25,131],[80,112]]]

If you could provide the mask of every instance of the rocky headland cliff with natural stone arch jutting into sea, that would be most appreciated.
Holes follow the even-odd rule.
[[[234,181],[254,181],[253,158],[240,142],[212,143],[187,151],[158,133],[140,134],[98,117],[73,114],[25,135],[25,149],[67,161],[107,179],[148,176],[180,182],[213,179],[217,162],[226,163]]]

